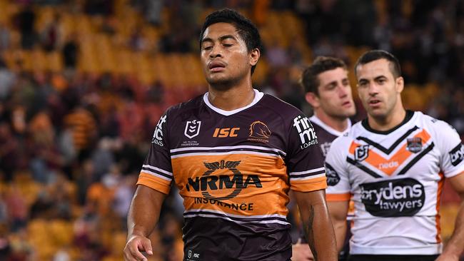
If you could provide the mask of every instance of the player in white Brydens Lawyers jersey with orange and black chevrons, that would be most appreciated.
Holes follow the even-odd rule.
[[[334,177],[327,200],[336,230],[344,231],[348,200],[355,215],[348,260],[450,260],[464,249],[464,205],[442,251],[440,194],[448,178],[464,197],[464,146],[453,127],[407,111],[397,58],[364,53],[355,64],[368,118],[333,141],[326,157]],[[336,232],[343,240],[343,232]]]

